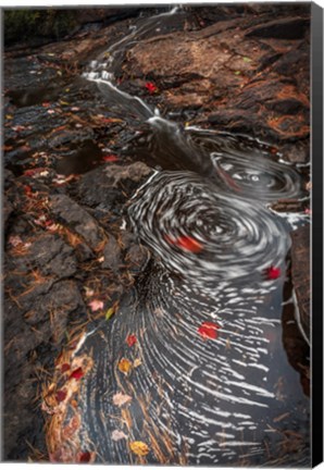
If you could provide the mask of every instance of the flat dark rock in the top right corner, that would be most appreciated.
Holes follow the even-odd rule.
[[[275,20],[252,27],[248,33],[246,33],[246,36],[261,38],[270,37],[278,39],[300,39],[304,36],[309,25],[309,18],[303,17]]]

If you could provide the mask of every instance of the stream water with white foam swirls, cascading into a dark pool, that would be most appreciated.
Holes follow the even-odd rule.
[[[264,143],[185,128],[116,85],[133,45],[184,18],[177,9],[141,18],[85,74],[116,114],[146,129],[132,152],[154,172],[126,221],[151,259],[115,318],[76,352],[95,359],[79,400],[82,443],[98,462],[136,462],[129,442],[140,441],[150,463],[306,467],[309,401],[283,346],[282,312],[289,232],[307,220],[271,210],[304,197],[301,176]],[[269,279],[271,267],[282,275]],[[213,338],[199,334],[204,322]],[[132,396],[124,409],[113,403],[120,392]]]

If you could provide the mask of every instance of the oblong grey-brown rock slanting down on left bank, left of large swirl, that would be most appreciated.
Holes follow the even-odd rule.
[[[91,249],[95,250],[102,242],[100,227],[96,220],[68,196],[51,196],[50,208],[58,221],[62,221],[80,235]]]

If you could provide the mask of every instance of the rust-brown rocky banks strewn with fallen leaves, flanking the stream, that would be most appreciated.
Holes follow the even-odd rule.
[[[245,133],[269,141],[285,161],[307,164],[309,4],[186,10],[182,30],[128,51],[121,89],[185,125]],[[48,460],[41,386],[62,347],[73,347],[89,322],[112,314],[150,256],[127,227],[121,230],[125,203],[151,172],[125,150],[138,129],[80,78],[89,60],[124,37],[139,13],[152,9],[110,22],[94,12],[73,36],[4,51],[8,460]]]

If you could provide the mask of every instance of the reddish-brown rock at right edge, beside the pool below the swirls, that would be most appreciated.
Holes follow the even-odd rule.
[[[291,233],[291,272],[302,333],[310,339],[310,226]]]

